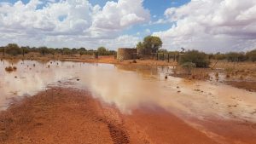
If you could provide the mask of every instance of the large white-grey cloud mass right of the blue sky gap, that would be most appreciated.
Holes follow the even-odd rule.
[[[246,51],[256,48],[256,1],[191,0],[169,8],[172,27],[154,35],[166,49],[200,49],[208,52]]]

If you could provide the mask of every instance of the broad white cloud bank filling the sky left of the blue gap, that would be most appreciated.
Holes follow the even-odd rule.
[[[88,0],[0,2],[0,45],[96,47],[99,42],[103,45],[118,42],[125,28],[149,18],[143,0],[107,2],[103,7],[92,5]],[[130,45],[137,39],[123,37],[131,38],[127,40]]]

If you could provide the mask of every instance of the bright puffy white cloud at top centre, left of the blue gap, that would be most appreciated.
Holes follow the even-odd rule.
[[[92,29],[120,30],[149,19],[148,9],[143,9],[143,0],[119,0],[117,3],[111,1],[102,10],[96,6]]]

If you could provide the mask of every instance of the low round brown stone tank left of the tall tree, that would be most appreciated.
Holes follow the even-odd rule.
[[[119,48],[117,60],[132,60],[137,58],[137,49]]]

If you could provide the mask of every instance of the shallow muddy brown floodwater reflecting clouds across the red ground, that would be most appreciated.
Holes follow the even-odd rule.
[[[191,82],[166,73],[169,67],[113,66],[74,62],[17,61],[15,72],[0,62],[0,107],[13,98],[35,95],[51,86],[89,89],[101,101],[121,112],[160,107],[178,116],[246,119],[256,122],[256,93],[215,82]]]

